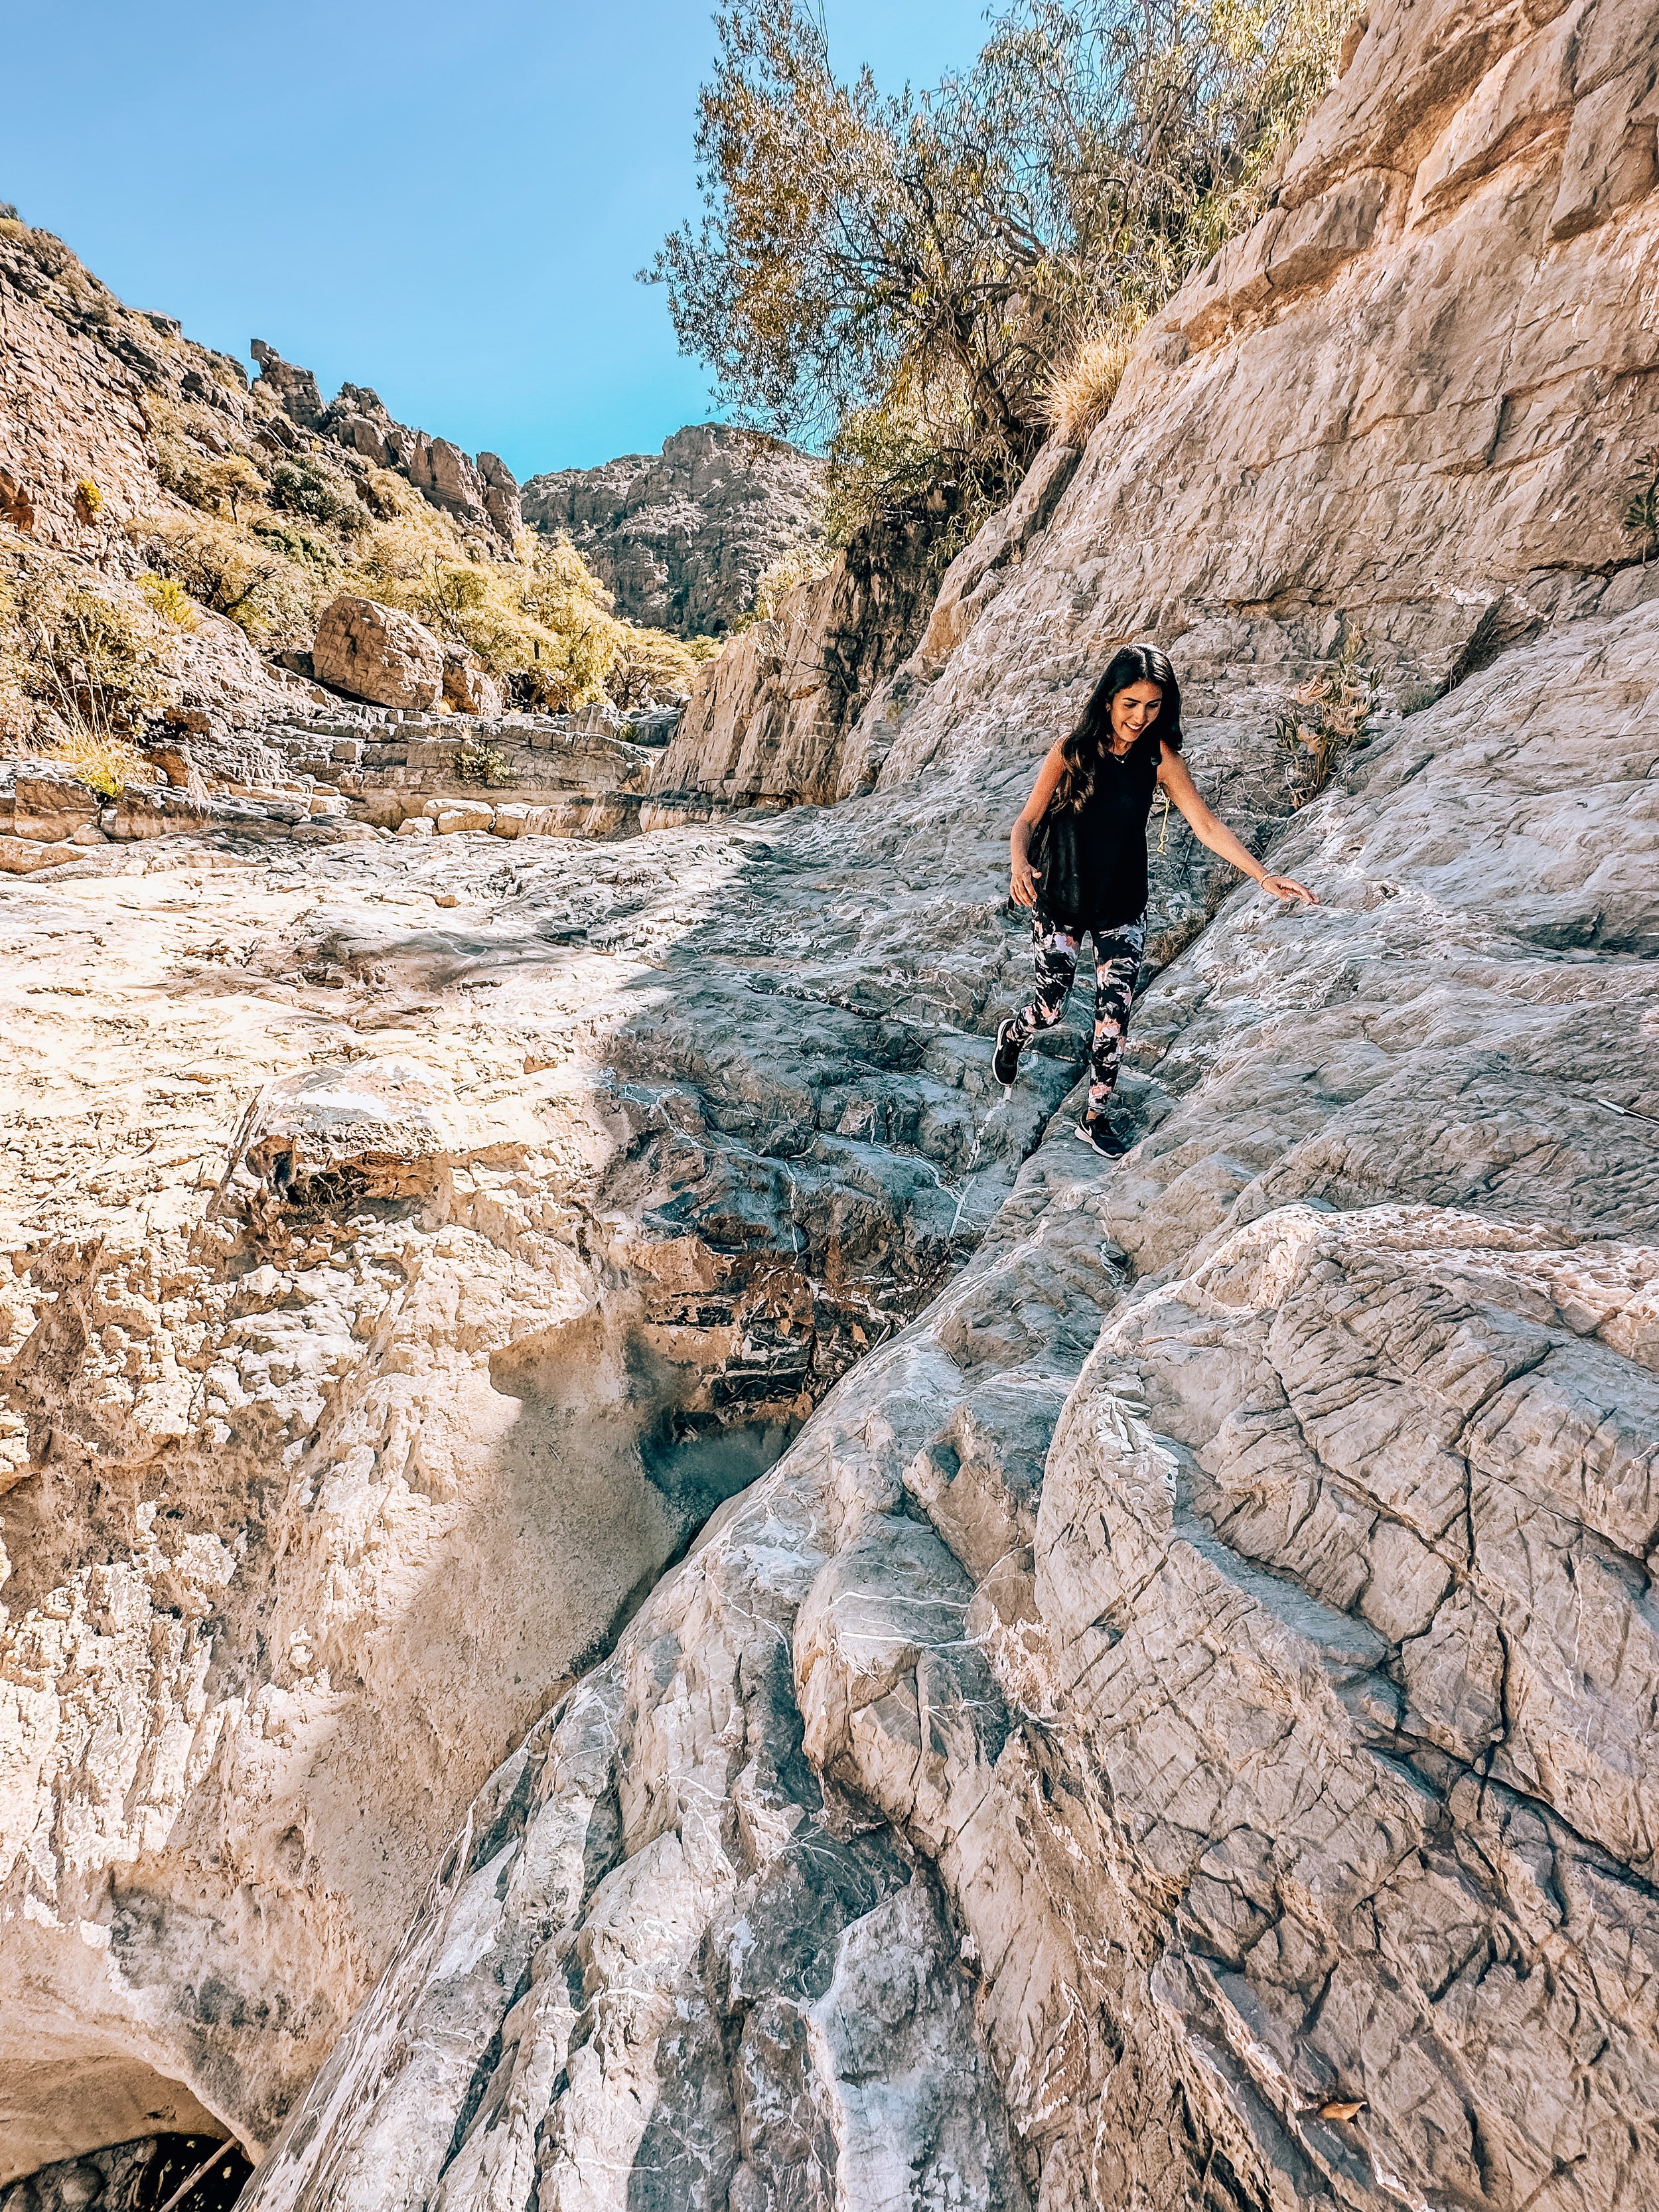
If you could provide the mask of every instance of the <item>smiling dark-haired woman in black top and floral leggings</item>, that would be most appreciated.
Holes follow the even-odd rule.
[[[1232,860],[1274,898],[1314,894],[1290,876],[1270,876],[1252,852],[1199,799],[1181,759],[1181,686],[1157,646],[1124,646],[1088,695],[1084,719],[1037,770],[1031,799],[1013,825],[1013,900],[1031,907],[1037,947],[1037,991],[998,1029],[991,1071],[1013,1086],[1020,1053],[1040,1029],[1053,1029],[1077,975],[1077,951],[1095,936],[1095,1044],[1088,1108],[1077,1124],[1084,1144],[1108,1159],[1126,1152],[1106,1121],[1106,1102],[1124,1057],[1124,1031],[1146,942],[1146,818],[1161,783],[1192,823],[1192,834]],[[1044,827],[1042,874],[1031,836]]]

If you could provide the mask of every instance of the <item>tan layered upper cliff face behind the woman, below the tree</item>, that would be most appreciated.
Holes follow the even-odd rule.
[[[664,785],[818,801],[1009,730],[1040,750],[1128,637],[1292,688],[1340,619],[1420,699],[1637,604],[1652,35],[1646,0],[1374,9],[1274,206],[1148,327],[1088,453],[1044,451],[854,714],[818,672],[836,615],[814,586],[772,659],[710,672]]]

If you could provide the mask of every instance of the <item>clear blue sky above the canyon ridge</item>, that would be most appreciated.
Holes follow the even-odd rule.
[[[984,0],[825,0],[843,73],[938,77]],[[692,212],[706,0],[0,0],[0,199],[135,307],[520,476],[710,414],[635,283]]]

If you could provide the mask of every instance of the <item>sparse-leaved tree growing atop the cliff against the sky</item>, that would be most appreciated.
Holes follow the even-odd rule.
[[[1079,345],[1250,221],[1356,0],[1013,0],[936,88],[841,82],[805,0],[732,0],[703,215],[661,246],[681,349],[745,422],[827,445],[832,522],[953,476],[1006,495]]]

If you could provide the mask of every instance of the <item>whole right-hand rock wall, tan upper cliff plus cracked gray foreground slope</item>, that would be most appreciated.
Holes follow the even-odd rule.
[[[1055,1121],[502,1765],[254,2205],[1659,2192],[1655,27],[1544,15],[1371,11],[878,792],[772,832],[1006,818],[1148,626],[1263,730],[1352,624],[1418,710],[1276,847],[1321,907],[1221,909],[1128,1159]],[[902,945],[960,858],[896,858]]]

